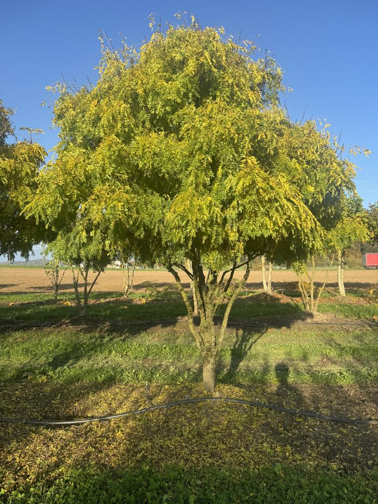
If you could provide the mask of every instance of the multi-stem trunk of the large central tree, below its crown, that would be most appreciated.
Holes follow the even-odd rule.
[[[189,272],[181,264],[176,265],[176,267],[182,269],[188,276],[192,277],[194,296],[197,299],[200,316],[199,325],[195,324],[195,314],[190,297],[183,288],[177,271],[173,269],[172,265],[168,265],[168,271],[174,276],[176,286],[186,305],[188,325],[202,355],[203,386],[206,392],[214,392],[215,390],[217,358],[226,333],[230,311],[238,293],[245,287],[245,282],[249,276],[248,261],[238,267],[243,265],[246,265],[245,274],[242,280],[237,282],[232,282],[233,274],[237,268],[236,263],[234,263],[234,266],[230,270],[223,273],[219,281],[218,273],[211,270],[206,279],[202,265],[198,260],[192,260],[193,273]],[[224,281],[225,273],[230,274],[227,281]],[[218,307],[224,302],[226,305],[221,326],[217,328],[214,318]]]

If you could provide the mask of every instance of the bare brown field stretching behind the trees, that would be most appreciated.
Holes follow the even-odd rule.
[[[240,278],[241,272],[235,275]],[[70,292],[73,290],[71,272],[67,270],[62,283],[60,284],[60,292]],[[322,282],[325,272],[317,271],[316,280]],[[252,271],[248,280],[248,288],[262,288],[261,271]],[[89,275],[89,280],[94,278],[94,274]],[[181,279],[187,281],[187,276],[182,273]],[[297,277],[290,270],[275,270],[273,271],[272,285],[276,291],[284,288],[288,282],[295,282]],[[347,289],[369,289],[378,285],[378,270],[346,270],[344,275],[345,286]],[[173,277],[170,273],[161,270],[143,271],[137,270],[134,277],[134,288],[136,291],[141,291],[146,288],[144,282],[153,282],[154,285],[161,289],[173,284]],[[331,271],[327,285],[329,287],[337,286],[337,272]],[[102,273],[94,286],[94,291],[102,292],[117,292],[122,288],[122,275],[120,270],[107,270]],[[1,293],[28,293],[28,292],[51,292],[52,287],[43,269],[26,269],[26,268],[0,268],[0,295]]]

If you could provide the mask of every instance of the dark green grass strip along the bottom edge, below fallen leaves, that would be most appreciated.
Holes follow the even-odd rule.
[[[373,504],[377,502],[378,472],[360,475],[311,472],[303,466],[277,463],[259,471],[233,472],[217,468],[184,470],[167,465],[161,471],[71,468],[61,471],[50,487],[14,491],[9,504]],[[1,491],[0,491],[1,492]]]

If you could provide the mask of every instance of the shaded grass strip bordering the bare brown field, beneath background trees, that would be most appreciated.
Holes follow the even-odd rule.
[[[243,294],[235,301],[230,314],[231,318],[240,320],[272,318],[303,313],[299,299],[295,301],[269,295],[261,297],[254,293],[247,297],[242,296]],[[328,299],[327,296],[321,299],[320,312],[330,312],[349,319],[371,319],[378,316],[376,303],[358,302],[358,298],[353,293],[345,298],[345,302],[341,299],[336,303],[329,302]],[[354,299],[355,302],[351,302]],[[63,304],[64,301],[68,303]],[[54,303],[48,293],[2,293],[0,294],[0,303],[3,303],[0,305],[0,319],[16,323],[19,321],[41,323],[59,321],[77,316],[78,309],[74,301],[73,293],[58,294],[58,303]],[[224,310],[225,305],[220,306],[218,315],[222,316]],[[169,287],[152,294],[136,291],[131,293],[128,300],[124,300],[117,292],[94,292],[87,314],[89,318],[114,321],[157,321],[185,316],[186,308],[179,293]]]

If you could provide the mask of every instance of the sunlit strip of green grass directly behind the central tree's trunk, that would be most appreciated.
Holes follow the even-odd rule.
[[[190,333],[101,334],[75,329],[0,336],[0,380],[32,372],[37,381],[68,384],[198,383],[201,354]],[[378,381],[378,335],[373,330],[230,330],[218,362],[220,383]]]

